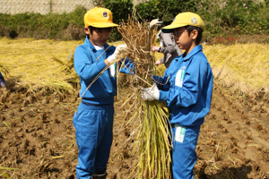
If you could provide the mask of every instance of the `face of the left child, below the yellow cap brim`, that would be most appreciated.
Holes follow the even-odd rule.
[[[88,30],[86,30],[88,29]],[[96,28],[90,32],[89,28],[85,28],[85,33],[90,35],[91,43],[94,46],[104,46],[110,36],[112,28]]]

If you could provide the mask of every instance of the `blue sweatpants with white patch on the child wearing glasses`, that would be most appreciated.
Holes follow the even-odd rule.
[[[193,168],[197,160],[195,148],[200,132],[200,125],[183,127],[172,124],[172,175],[173,179],[194,178]]]

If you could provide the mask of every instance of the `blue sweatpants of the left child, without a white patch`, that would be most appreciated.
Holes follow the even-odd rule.
[[[81,103],[74,114],[75,139],[79,149],[77,179],[90,179],[95,172],[106,171],[113,141],[113,116],[113,104],[89,106]]]

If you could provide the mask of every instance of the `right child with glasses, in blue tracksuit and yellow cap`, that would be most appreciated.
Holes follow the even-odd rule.
[[[213,72],[199,45],[204,21],[195,13],[178,13],[175,21],[161,30],[172,32],[185,53],[172,61],[163,77],[153,76],[156,83],[142,89],[141,96],[143,100],[167,102],[173,139],[172,175],[174,179],[189,179],[194,177],[195,147],[213,93]]]

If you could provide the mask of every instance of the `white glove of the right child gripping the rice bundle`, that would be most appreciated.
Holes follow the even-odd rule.
[[[150,88],[143,88],[141,89],[141,98],[143,100],[152,101],[154,99],[159,100],[160,97],[160,90],[157,87],[156,83],[153,83],[152,87]]]

